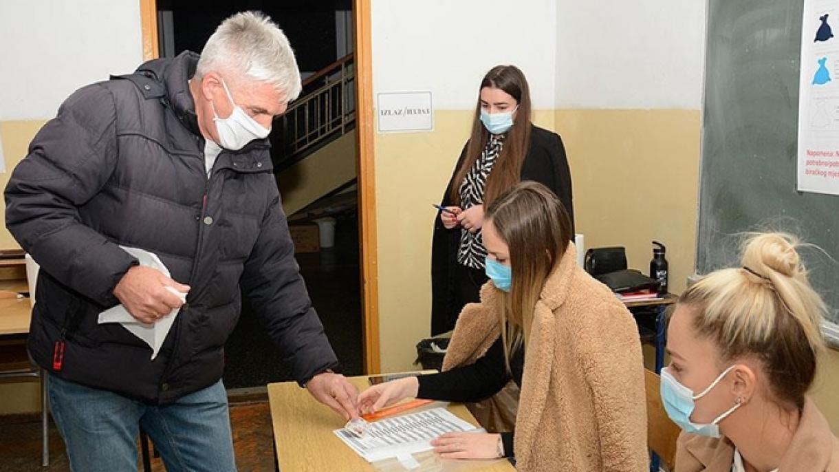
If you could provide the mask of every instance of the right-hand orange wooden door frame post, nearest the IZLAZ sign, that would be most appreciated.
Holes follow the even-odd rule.
[[[364,318],[364,370],[378,374],[382,359],[378,334],[378,246],[376,244],[376,174],[373,159],[373,48],[370,0],[355,0],[356,126],[358,136],[358,207]]]

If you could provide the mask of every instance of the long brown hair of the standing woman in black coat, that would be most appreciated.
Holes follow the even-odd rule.
[[[521,180],[522,163],[524,155],[530,147],[530,87],[524,74],[516,66],[495,66],[483,76],[481,87],[478,88],[478,99],[475,107],[475,118],[472,119],[472,135],[469,143],[466,144],[466,159],[455,172],[455,179],[452,181],[449,197],[455,205],[460,205],[460,186],[466,173],[480,157],[483,149],[487,146],[489,132],[481,123],[481,91],[485,87],[500,88],[515,98],[519,110],[513,120],[513,127],[507,132],[501,154],[487,178],[487,186],[484,188],[484,205],[492,203],[498,195],[507,191],[516,182]]]

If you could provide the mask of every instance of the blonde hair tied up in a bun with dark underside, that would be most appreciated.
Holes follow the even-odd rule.
[[[682,293],[696,308],[694,328],[721,349],[722,360],[757,356],[774,396],[803,406],[824,349],[826,305],[810,286],[786,233],[755,233],[743,245],[742,267],[722,269]]]

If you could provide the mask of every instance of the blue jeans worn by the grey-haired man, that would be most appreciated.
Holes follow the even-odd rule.
[[[169,472],[236,470],[221,380],[166,406],[149,406],[55,376],[49,377],[47,388],[74,471],[136,471],[140,425]]]

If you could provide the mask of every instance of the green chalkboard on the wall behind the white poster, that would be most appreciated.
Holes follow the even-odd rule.
[[[779,228],[839,259],[839,196],[796,191],[803,0],[710,0],[699,273],[737,264],[742,233]],[[673,58],[670,67],[678,66]],[[839,323],[839,264],[804,250]],[[828,332],[831,327],[828,327]]]

